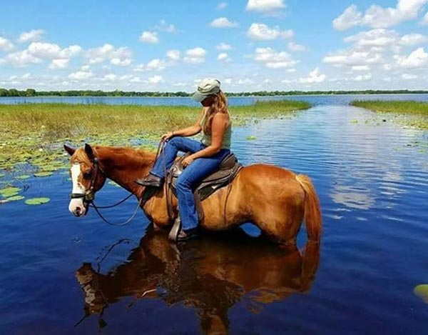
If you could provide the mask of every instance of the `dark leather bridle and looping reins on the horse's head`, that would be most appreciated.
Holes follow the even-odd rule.
[[[71,193],[70,198],[71,199],[83,199],[83,206],[85,206],[86,208],[93,207],[93,209],[95,209],[98,216],[107,224],[110,224],[111,226],[125,226],[126,224],[131,222],[131,220],[136,216],[138,208],[141,206],[141,200],[143,198],[138,200],[137,207],[136,207],[135,211],[133,212],[133,214],[131,215],[131,217],[129,219],[127,219],[126,221],[122,222],[121,224],[115,224],[115,223],[105,219],[104,216],[100,213],[100,211],[98,209],[107,209],[107,208],[116,207],[120,204],[123,204],[123,202],[125,202],[126,200],[131,198],[131,196],[133,196],[133,194],[132,193],[129,194],[128,196],[126,196],[125,199],[122,199],[121,201],[117,202],[116,204],[113,204],[110,206],[96,206],[95,202],[93,202],[95,200],[95,192],[96,192],[95,191],[95,182],[96,182],[96,179],[98,177],[98,174],[100,174],[100,173],[104,176],[104,178],[107,178],[107,177],[106,177],[106,174],[104,173],[103,169],[101,169],[101,167],[99,166],[98,157],[93,157],[92,161],[93,161],[93,173],[92,173],[92,178],[91,178],[91,184],[89,184],[89,189],[85,193]]]

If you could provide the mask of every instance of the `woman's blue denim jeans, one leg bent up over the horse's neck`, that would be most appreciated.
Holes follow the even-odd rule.
[[[200,141],[185,137],[173,137],[166,142],[162,152],[151,169],[151,174],[165,178],[166,170],[173,165],[178,151],[191,152],[205,149]],[[221,161],[230,153],[229,149],[221,149],[217,154],[209,157],[200,157],[188,165],[182,174],[178,176],[176,189],[178,197],[178,210],[180,211],[183,229],[192,229],[198,226],[198,212],[196,211],[193,191],[206,176],[217,171]]]

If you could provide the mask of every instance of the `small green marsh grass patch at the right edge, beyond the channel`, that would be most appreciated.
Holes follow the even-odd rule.
[[[428,129],[428,102],[422,101],[351,101],[352,106],[379,113],[399,114],[399,122],[419,129]]]

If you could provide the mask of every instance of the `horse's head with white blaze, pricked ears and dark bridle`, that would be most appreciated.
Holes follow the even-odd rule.
[[[75,216],[84,216],[96,191],[103,187],[106,176],[99,165],[96,151],[89,144],[85,144],[84,149],[73,149],[64,144],[64,149],[71,155],[70,174],[73,181],[68,210]]]

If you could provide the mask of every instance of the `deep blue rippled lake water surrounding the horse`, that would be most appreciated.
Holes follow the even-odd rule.
[[[233,151],[243,164],[312,178],[324,223],[320,254],[242,236],[176,248],[146,231],[141,213],[123,227],[93,211],[71,216],[66,174],[29,179],[24,195],[51,202],[0,206],[1,333],[426,332],[428,305],[413,289],[428,284],[428,134],[346,106],[347,96],[309,98],[319,100],[296,117],[235,129]],[[97,201],[125,195],[106,185]],[[105,213],[124,221],[135,206]],[[301,231],[300,249],[305,239]]]

